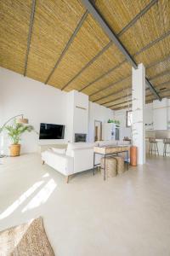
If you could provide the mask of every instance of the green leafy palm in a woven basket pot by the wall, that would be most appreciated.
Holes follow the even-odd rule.
[[[26,131],[31,132],[34,130],[32,125],[23,125],[17,123],[14,119],[13,125],[6,125],[4,127],[8,132],[8,137],[10,138],[12,144],[10,145],[10,156],[19,156],[20,155],[20,139],[21,135]]]

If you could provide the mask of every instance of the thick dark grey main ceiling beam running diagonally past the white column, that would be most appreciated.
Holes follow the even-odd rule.
[[[122,44],[122,42],[117,38],[116,33],[111,30],[111,27],[107,24],[106,20],[99,14],[99,11],[95,9],[93,3],[88,0],[82,0],[84,6],[88,9],[89,13],[93,15],[94,19],[99,22],[99,25],[103,28],[106,35],[111,39],[111,41],[116,44],[116,47],[122,52],[127,61],[132,65],[133,68],[137,69],[138,64],[134,61],[133,56],[130,55],[128,50]],[[156,92],[154,86],[150,83],[150,81],[146,78],[146,84],[150,87],[150,90],[156,96],[156,98],[161,101],[161,97]]]

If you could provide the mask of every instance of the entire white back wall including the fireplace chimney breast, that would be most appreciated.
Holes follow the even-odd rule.
[[[67,143],[71,140],[74,132],[89,132],[88,137],[93,141],[94,119],[106,122],[113,118],[113,112],[111,109],[98,104],[88,103],[88,96],[77,91],[73,92],[75,94],[73,100],[71,93],[58,90],[1,67],[0,125],[20,113],[24,113],[25,117],[29,119],[29,124],[33,125],[38,132],[39,125],[43,122],[65,125],[65,140],[39,140],[35,132],[26,133],[21,141],[22,153],[37,151],[37,145],[40,143]],[[76,106],[87,108],[86,113],[78,108],[75,111]],[[76,117],[76,122],[74,117]],[[1,153],[8,154],[9,141],[8,137],[4,136],[4,132],[0,139]]]

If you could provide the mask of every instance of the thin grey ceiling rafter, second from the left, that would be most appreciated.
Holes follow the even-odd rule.
[[[82,15],[82,19],[78,22],[78,25],[77,25],[75,31],[72,33],[71,38],[69,39],[69,41],[68,41],[67,44],[65,45],[65,48],[63,49],[61,55],[59,56],[59,59],[56,61],[55,65],[54,65],[54,68],[52,69],[51,73],[49,73],[48,78],[47,78],[46,81],[45,81],[45,84],[48,84],[48,81],[49,81],[49,79],[51,78],[51,76],[53,75],[54,70],[59,66],[59,62],[60,62],[60,61],[62,60],[62,58],[64,57],[64,55],[65,55],[67,49],[70,48],[71,43],[73,42],[74,38],[77,36],[77,32],[79,32],[79,30],[80,30],[80,28],[81,28],[83,22],[86,20],[87,16],[88,16],[88,10],[86,10],[86,12]]]

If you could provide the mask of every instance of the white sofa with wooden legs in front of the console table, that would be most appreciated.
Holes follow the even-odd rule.
[[[100,141],[96,143],[68,143],[67,148],[48,148],[42,152],[42,163],[62,173],[69,181],[69,176],[94,167],[94,146],[127,145],[127,142]],[[101,155],[96,155],[95,164],[99,164]]]

